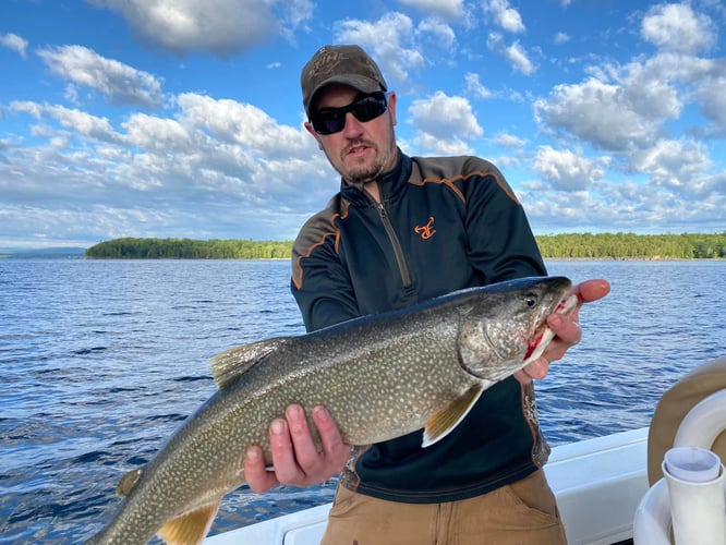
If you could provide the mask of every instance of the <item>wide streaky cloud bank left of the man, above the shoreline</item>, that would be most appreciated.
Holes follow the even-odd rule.
[[[176,106],[171,116],[135,112],[113,128],[81,110],[12,102],[11,114],[36,121],[36,143],[10,146],[11,160],[0,161],[9,220],[19,219],[13,209],[28,217],[36,209],[37,225],[51,225],[41,210],[52,216],[73,194],[85,237],[293,238],[337,189],[339,178],[302,124],[202,95],[181,95]],[[100,208],[108,228],[88,221]],[[198,210],[214,215],[214,232],[194,231],[205,223]],[[53,233],[69,240],[71,231]]]

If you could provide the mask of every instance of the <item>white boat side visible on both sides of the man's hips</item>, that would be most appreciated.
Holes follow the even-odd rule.
[[[648,428],[553,448],[545,473],[569,545],[608,545],[632,537],[648,484]],[[225,532],[206,545],[318,545],[330,504]]]

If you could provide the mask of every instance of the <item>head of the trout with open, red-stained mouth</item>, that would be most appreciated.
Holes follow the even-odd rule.
[[[459,330],[463,368],[497,382],[537,359],[554,338],[547,316],[577,306],[571,289],[565,277],[522,278],[487,287],[467,306]]]

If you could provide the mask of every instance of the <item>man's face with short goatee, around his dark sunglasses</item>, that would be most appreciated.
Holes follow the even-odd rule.
[[[356,89],[329,85],[317,97],[316,109],[341,108],[355,101]],[[388,94],[388,109],[371,121],[359,121],[346,113],[346,126],[332,134],[318,134],[310,122],[305,129],[315,136],[319,148],[347,182],[372,182],[396,166],[396,94]]]

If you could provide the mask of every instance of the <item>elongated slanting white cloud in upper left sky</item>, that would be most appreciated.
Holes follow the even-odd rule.
[[[90,87],[112,105],[155,108],[162,101],[161,82],[152,74],[83,46],[49,47],[38,55],[55,74],[75,85]]]

